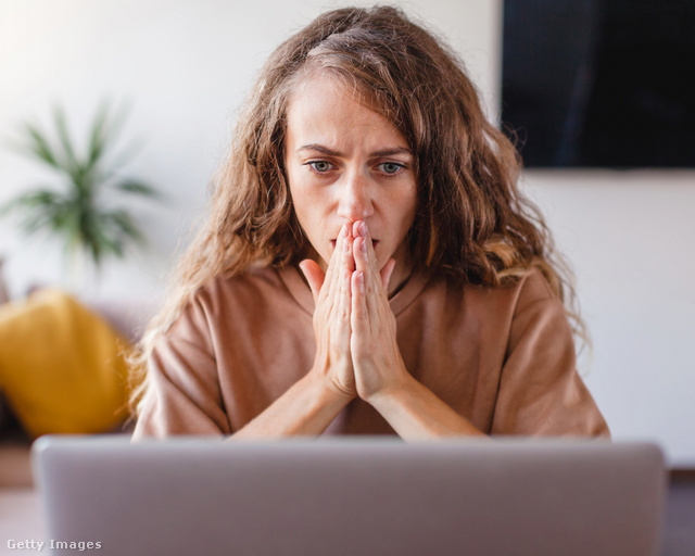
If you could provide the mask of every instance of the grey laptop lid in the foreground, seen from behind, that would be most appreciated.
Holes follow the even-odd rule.
[[[656,445],[595,440],[43,437],[33,452],[61,555],[654,556],[667,485]]]

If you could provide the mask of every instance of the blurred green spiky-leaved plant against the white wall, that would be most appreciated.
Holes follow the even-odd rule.
[[[126,161],[112,156],[124,121],[123,112],[112,116],[109,104],[102,103],[81,155],[61,108],[53,111],[58,141],[34,125],[22,128],[22,152],[53,170],[62,185],[34,189],[10,200],[0,206],[0,216],[18,217],[29,236],[48,231],[60,238],[74,286],[85,280],[86,264],[91,262],[98,278],[106,258],[123,257],[130,244],[146,243],[132,215],[123,206],[113,206],[113,200],[121,195],[159,197],[147,184],[124,177]]]

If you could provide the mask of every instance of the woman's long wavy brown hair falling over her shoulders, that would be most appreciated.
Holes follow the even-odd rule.
[[[586,338],[571,311],[571,275],[554,255],[542,216],[517,189],[517,151],[485,118],[460,60],[399,9],[350,8],[318,16],[265,63],[214,181],[210,216],[131,358],[137,380],[157,337],[205,281],[305,256],[309,244],[283,169],[285,116],[291,92],[317,71],[351,85],[412,148],[418,200],[408,244],[417,268],[503,287],[536,267],[568,307],[576,334]]]

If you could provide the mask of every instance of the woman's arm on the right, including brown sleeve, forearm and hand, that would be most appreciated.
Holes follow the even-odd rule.
[[[407,372],[386,296],[388,280],[378,279],[366,233],[355,239],[354,252],[351,346],[359,396],[404,438],[479,434]],[[565,307],[539,271],[530,273],[519,285],[492,433],[609,435],[576,370]]]

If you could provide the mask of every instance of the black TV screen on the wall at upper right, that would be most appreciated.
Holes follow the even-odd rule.
[[[505,0],[502,123],[527,167],[695,167],[695,0]]]

